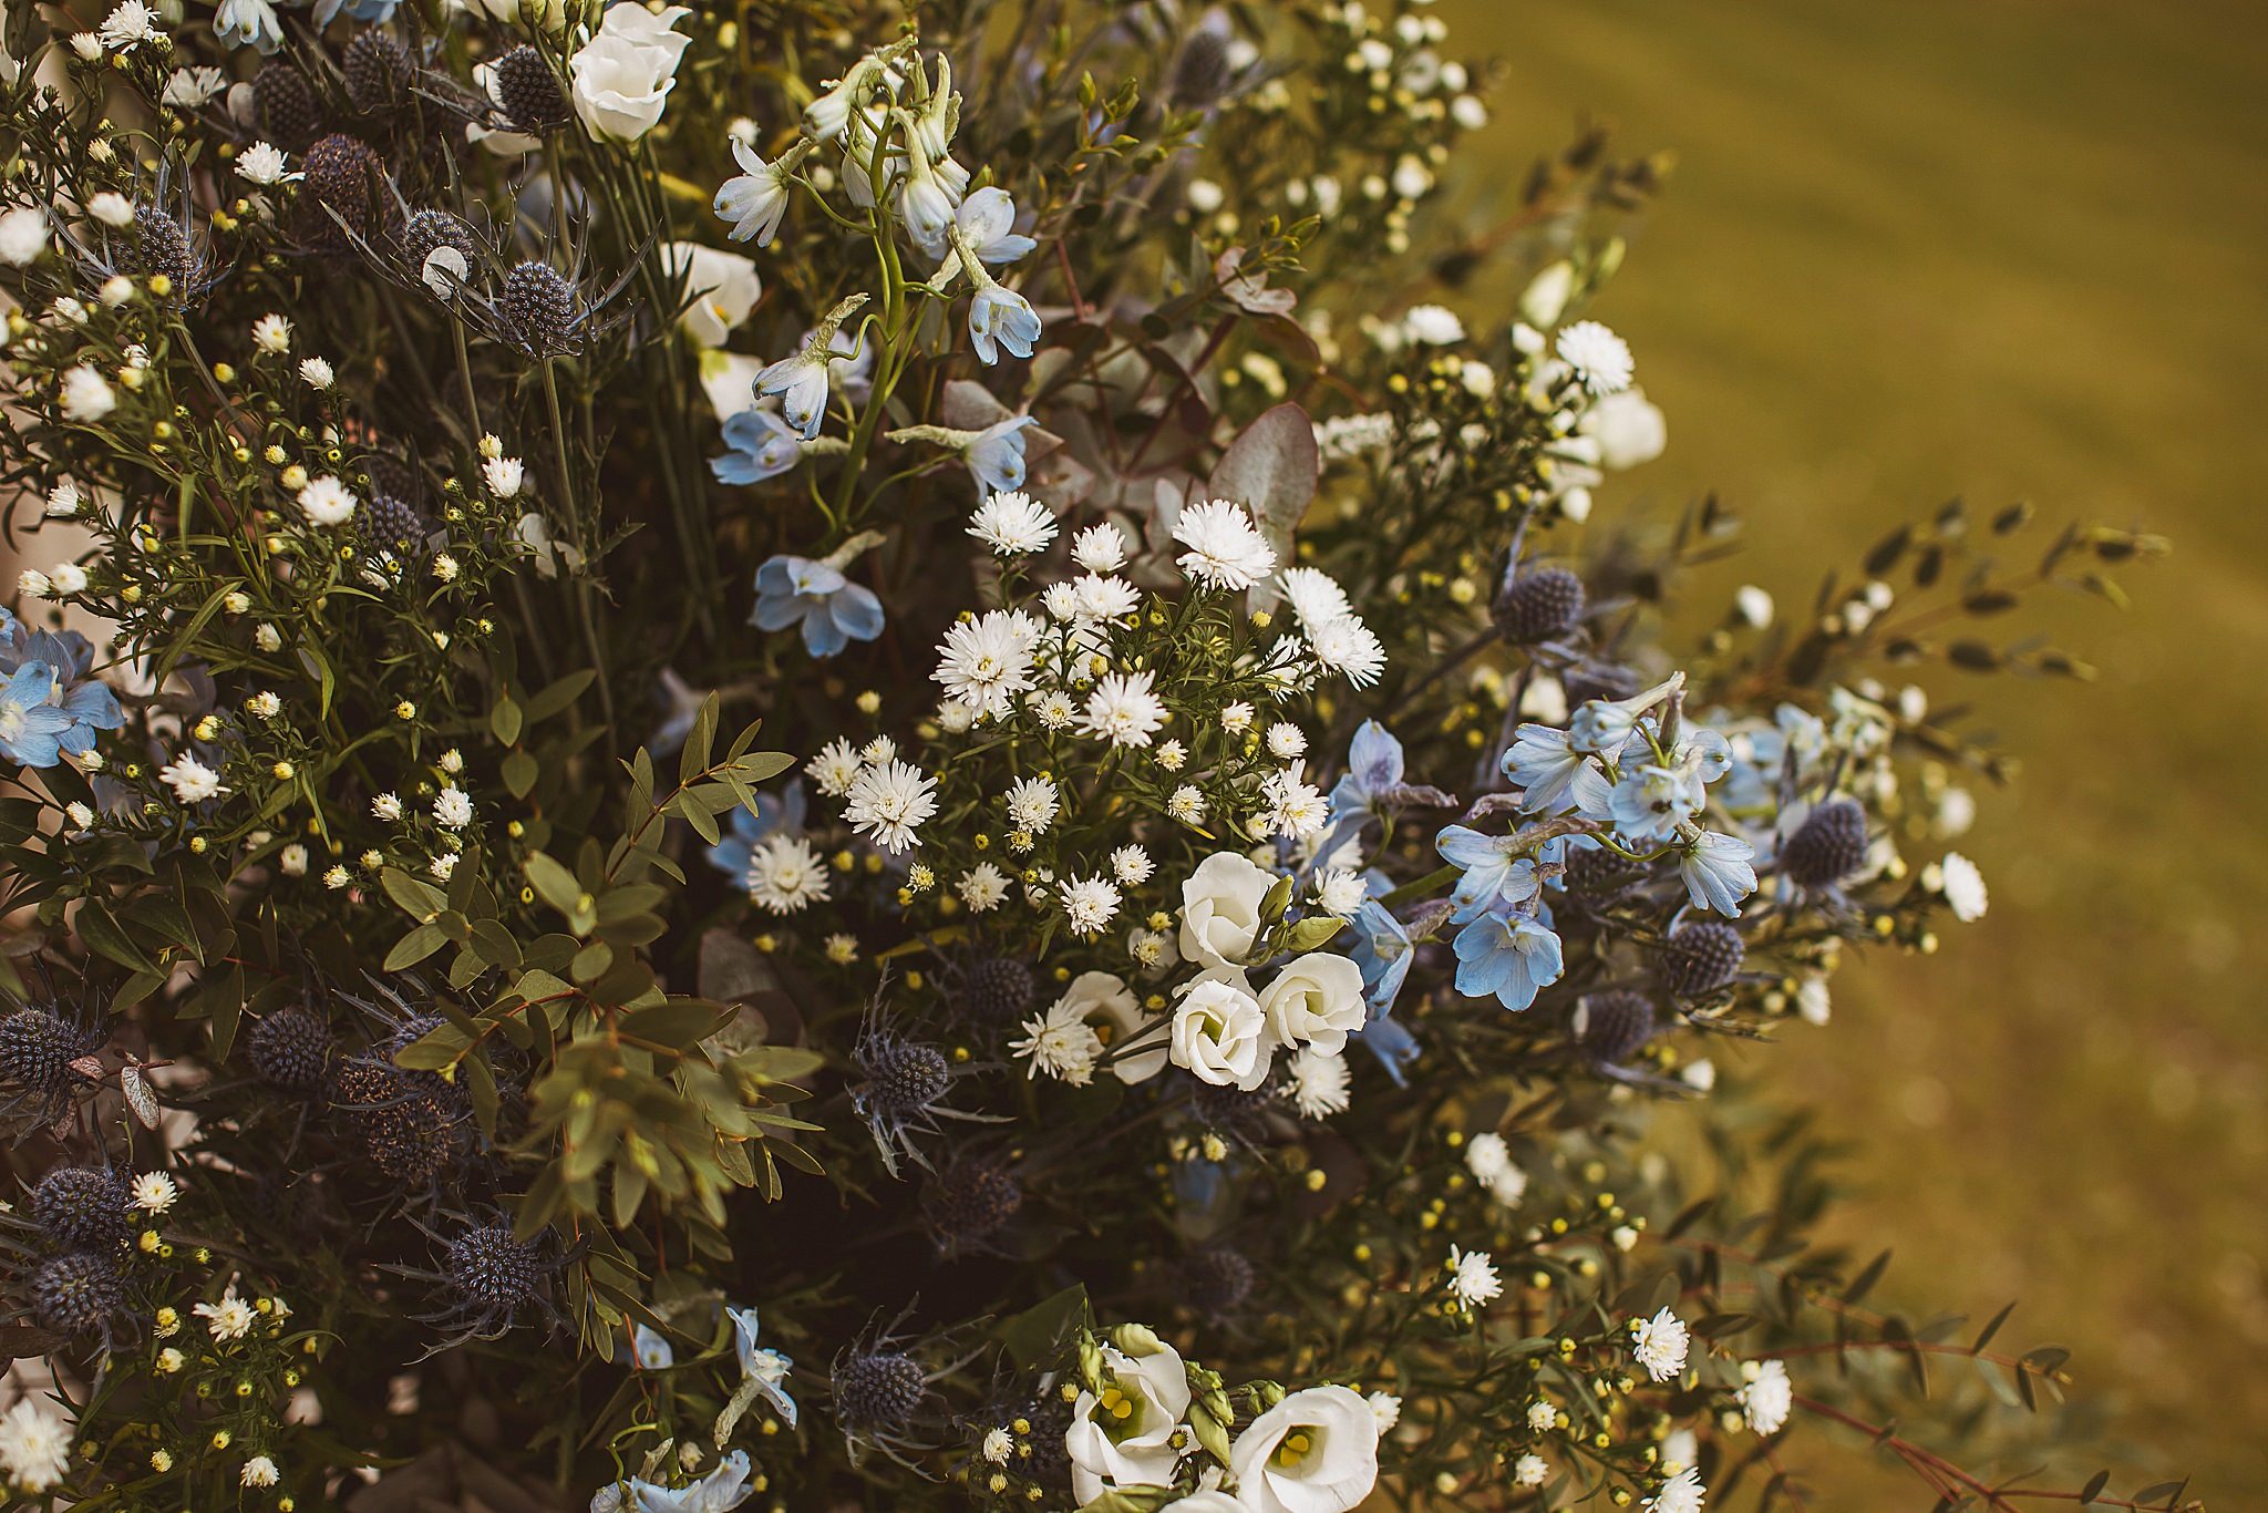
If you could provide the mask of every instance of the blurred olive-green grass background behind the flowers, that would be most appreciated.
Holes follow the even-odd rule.
[[[2268,7],[1442,14],[1506,68],[1486,150],[1508,184],[1583,113],[1678,154],[1597,311],[1669,451],[1601,510],[1721,490],[1751,547],[1717,588],[1783,610],[1953,495],[2175,540],[2130,574],[2130,612],[2050,606],[2096,687],[1935,681],[1987,696],[2025,764],[1962,842],[1991,914],[1935,960],[1857,962],[1830,1028],[1740,1062],[1862,1146],[1839,1227],[1896,1241],[1885,1295],[1978,1318],[2019,1298],[2007,1338],[2068,1345],[2132,1443],[2121,1490],[2186,1470],[2214,1506],[2259,1506]]]

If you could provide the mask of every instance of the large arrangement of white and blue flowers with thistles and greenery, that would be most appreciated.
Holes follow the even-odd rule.
[[[68,9],[20,1504],[2184,1506],[1989,1470],[2064,1352],[1871,1311],[1712,1071],[1984,912],[1932,690],[2157,542],[1950,506],[1778,612],[1610,524],[1656,163],[1465,225],[1417,0]]]

